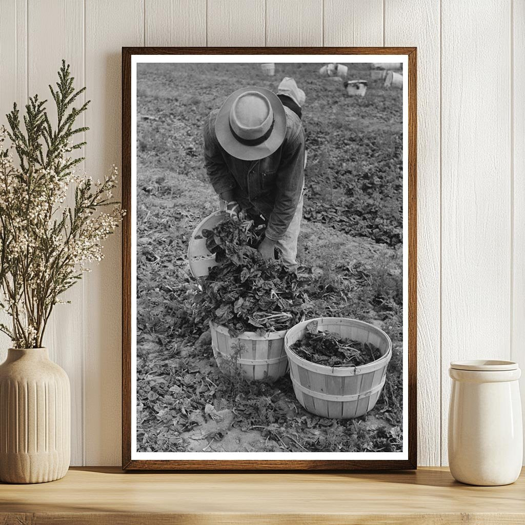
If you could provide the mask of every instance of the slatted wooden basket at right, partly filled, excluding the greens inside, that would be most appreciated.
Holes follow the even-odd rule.
[[[377,348],[378,359],[362,366],[330,367],[300,358],[290,347],[302,339],[307,324],[318,321],[318,330],[328,330],[340,337],[370,343]],[[392,342],[374,325],[341,317],[310,319],[290,328],[285,337],[290,363],[290,379],[297,401],[312,414],[348,419],[370,411],[385,383],[386,369],[392,357]]]

